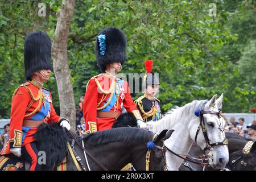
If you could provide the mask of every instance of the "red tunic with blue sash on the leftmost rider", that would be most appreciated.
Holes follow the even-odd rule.
[[[33,84],[32,84],[33,82]],[[60,117],[52,106],[51,93],[36,84],[34,81],[26,82],[15,90],[11,101],[10,137],[1,154],[10,154],[10,148],[22,147],[34,142],[34,134],[38,127],[23,126],[23,121],[46,123],[59,122]]]

